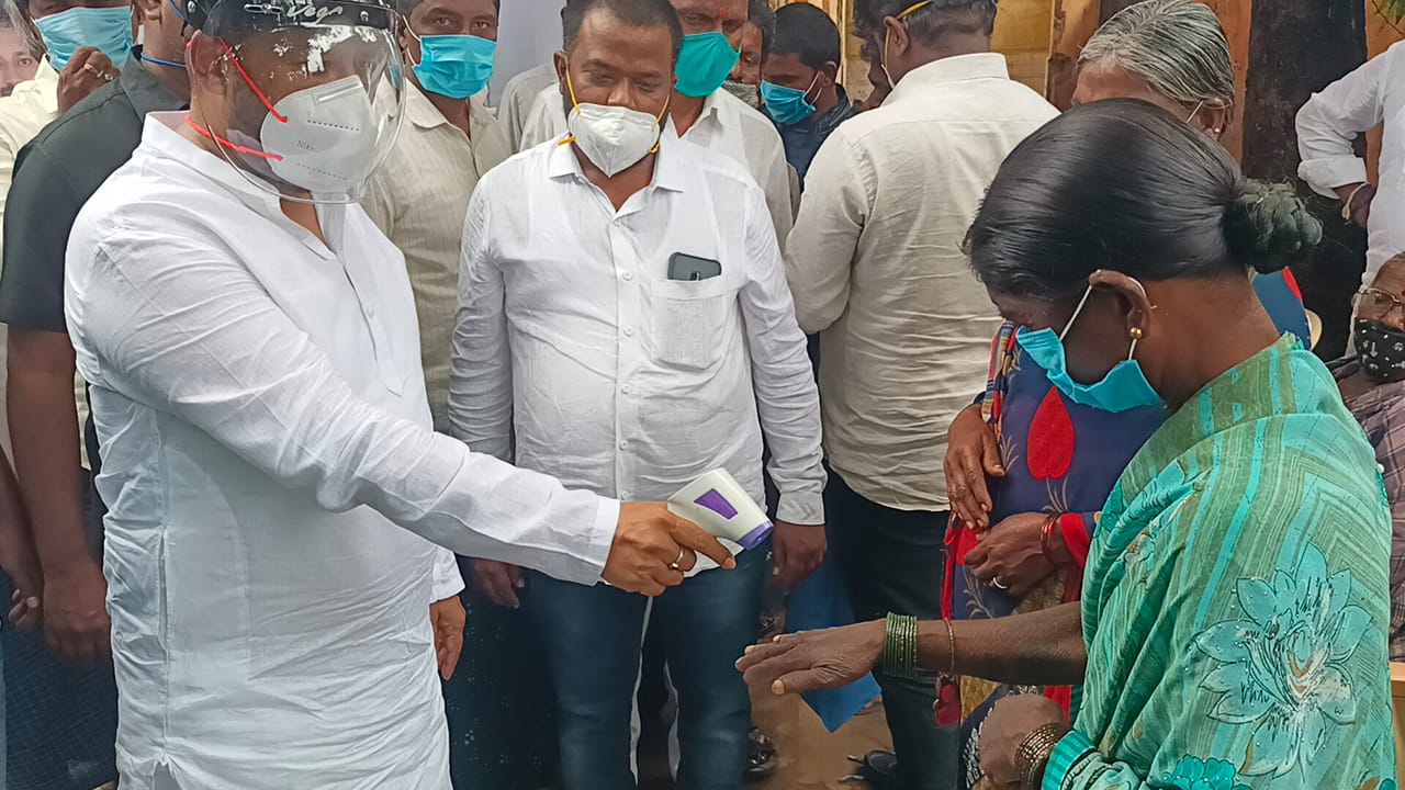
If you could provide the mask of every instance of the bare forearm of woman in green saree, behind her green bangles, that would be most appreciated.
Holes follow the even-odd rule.
[[[917,663],[933,672],[984,678],[1021,686],[1076,686],[1083,682],[1087,648],[1078,603],[998,620],[958,620],[955,662],[951,635],[941,620],[917,628]]]

